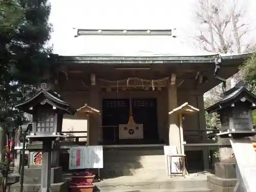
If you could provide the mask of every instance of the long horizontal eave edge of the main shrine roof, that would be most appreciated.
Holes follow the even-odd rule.
[[[162,63],[214,63],[216,58],[221,58],[220,65],[238,65],[245,59],[249,58],[251,53],[245,54],[207,54],[207,55],[172,55],[159,54],[147,56],[117,56],[111,54],[87,54],[77,56],[61,56],[57,57],[59,63],[82,63],[82,64],[116,64],[122,63],[139,63],[139,64],[162,64]],[[236,62],[237,61],[237,62]]]

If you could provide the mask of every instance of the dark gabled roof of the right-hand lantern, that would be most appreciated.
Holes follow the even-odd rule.
[[[233,87],[224,93],[224,96],[220,101],[209,106],[206,111],[208,113],[216,112],[226,106],[230,106],[243,97],[251,103],[256,103],[256,96],[252,94],[245,86]]]

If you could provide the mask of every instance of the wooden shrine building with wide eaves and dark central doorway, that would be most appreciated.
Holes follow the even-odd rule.
[[[209,168],[217,143],[207,136],[203,95],[249,56],[57,55],[54,90],[73,108],[97,112],[66,115],[62,132],[87,131],[79,141],[106,148],[175,145],[190,167]],[[181,133],[178,115],[169,112],[186,102],[199,111],[182,115]]]

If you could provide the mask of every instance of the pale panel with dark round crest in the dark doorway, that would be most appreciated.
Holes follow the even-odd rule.
[[[143,139],[143,124],[119,124],[119,139]]]

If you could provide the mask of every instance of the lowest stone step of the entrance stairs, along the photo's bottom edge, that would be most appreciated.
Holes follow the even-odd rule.
[[[141,191],[152,189],[166,189],[176,191],[197,191],[207,188],[207,180],[174,180],[174,181],[138,181],[138,182],[99,182],[96,183],[100,191]],[[194,190],[195,189],[195,190]],[[199,190],[200,191],[200,190]]]

